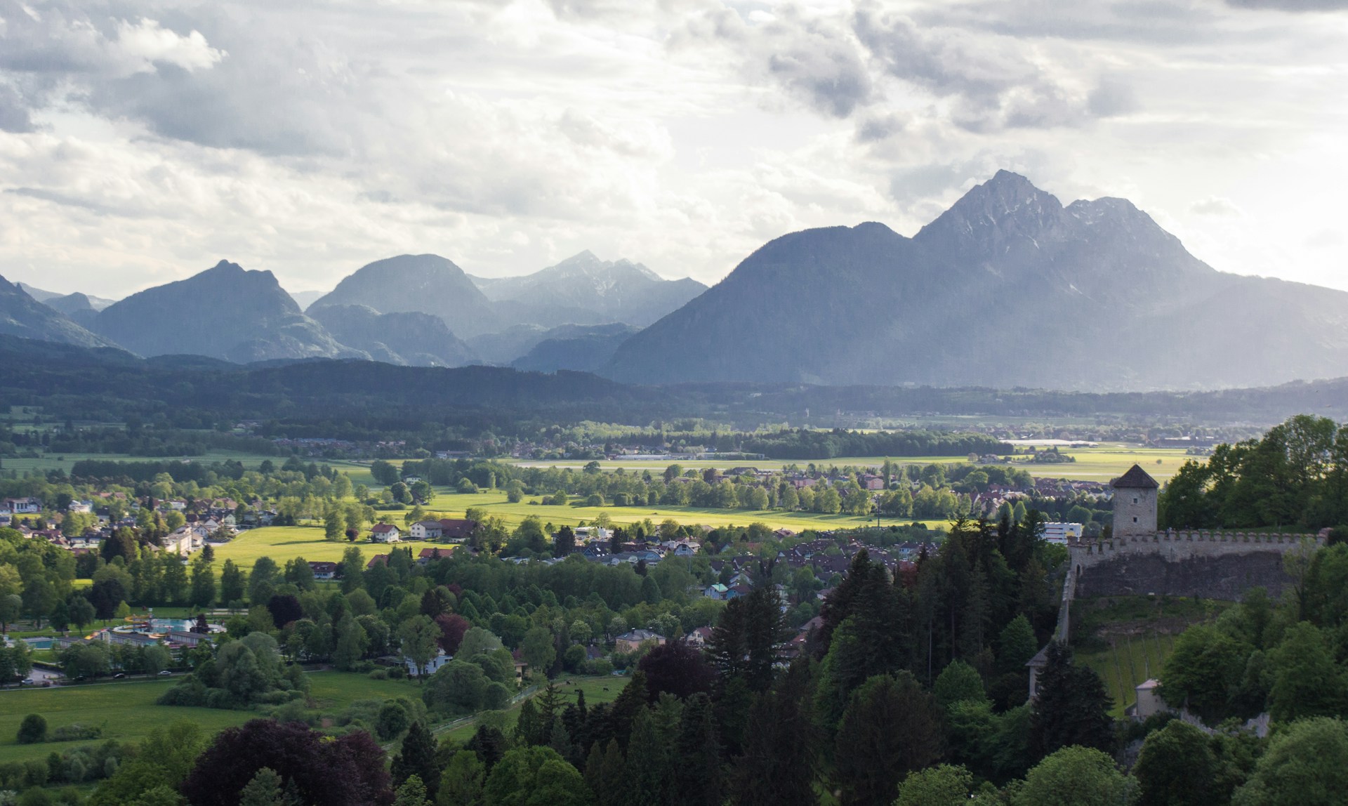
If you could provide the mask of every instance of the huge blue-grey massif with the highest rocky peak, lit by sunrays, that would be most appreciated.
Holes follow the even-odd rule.
[[[797,232],[624,342],[617,380],[1143,390],[1348,373],[1348,294],[1221,274],[1130,202],[999,171],[913,239]]]

